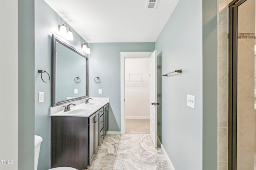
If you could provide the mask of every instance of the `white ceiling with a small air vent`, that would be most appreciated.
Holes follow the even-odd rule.
[[[89,43],[155,42],[178,0],[45,0]]]

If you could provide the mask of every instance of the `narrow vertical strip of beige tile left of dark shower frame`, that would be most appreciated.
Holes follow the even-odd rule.
[[[228,170],[228,4],[218,0],[218,170]]]

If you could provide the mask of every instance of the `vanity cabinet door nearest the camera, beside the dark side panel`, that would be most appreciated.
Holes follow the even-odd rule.
[[[89,117],[89,166],[90,162],[95,156],[95,147],[94,147],[94,121],[95,113]]]

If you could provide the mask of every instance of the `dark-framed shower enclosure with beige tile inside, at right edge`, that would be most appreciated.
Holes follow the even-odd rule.
[[[255,0],[229,4],[229,170],[256,169]]]

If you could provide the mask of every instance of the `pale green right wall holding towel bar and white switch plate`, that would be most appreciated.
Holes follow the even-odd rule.
[[[202,0],[180,0],[156,40],[162,74],[162,145],[176,170],[202,170]],[[196,96],[195,109],[186,95]]]

